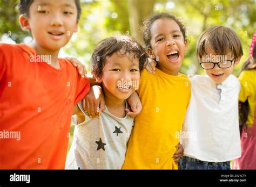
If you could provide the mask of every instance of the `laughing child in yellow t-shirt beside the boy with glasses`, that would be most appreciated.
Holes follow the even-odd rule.
[[[190,81],[179,70],[187,49],[186,28],[169,13],[145,20],[147,53],[156,75],[144,70],[137,91],[143,110],[135,118],[122,169],[178,169],[173,153],[190,102]]]

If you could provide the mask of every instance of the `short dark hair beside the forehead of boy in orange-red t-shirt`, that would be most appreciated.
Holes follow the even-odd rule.
[[[33,3],[33,0],[20,0],[19,1],[19,14],[29,16],[29,8],[32,3]],[[82,12],[82,9],[80,6],[80,0],[75,0],[75,4],[77,7],[77,20],[79,20],[80,16],[81,16],[81,12]]]

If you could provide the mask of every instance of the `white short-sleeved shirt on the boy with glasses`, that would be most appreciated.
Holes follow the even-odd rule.
[[[221,84],[195,75],[180,141],[184,155],[207,162],[226,162],[241,156],[238,121],[238,78]]]

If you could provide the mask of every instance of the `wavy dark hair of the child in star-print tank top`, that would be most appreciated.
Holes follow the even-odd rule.
[[[127,35],[117,35],[100,41],[93,51],[91,57],[91,72],[98,77],[102,76],[102,70],[106,63],[106,58],[112,54],[120,52],[121,55],[129,55],[131,59],[139,59],[139,70],[142,71],[147,63],[147,53],[138,41]]]

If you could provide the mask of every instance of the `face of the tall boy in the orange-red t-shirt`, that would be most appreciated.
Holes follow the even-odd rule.
[[[58,51],[77,32],[76,4],[70,0],[35,0],[29,17],[21,15],[19,21],[24,30],[31,31],[36,47]]]

